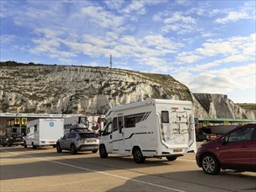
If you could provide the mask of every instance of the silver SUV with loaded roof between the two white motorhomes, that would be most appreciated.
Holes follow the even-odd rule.
[[[99,138],[93,132],[85,130],[73,130],[56,142],[57,152],[68,150],[71,154],[78,151],[92,151],[97,153],[99,148]]]

